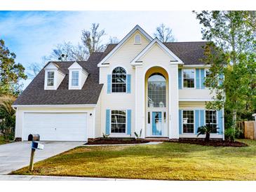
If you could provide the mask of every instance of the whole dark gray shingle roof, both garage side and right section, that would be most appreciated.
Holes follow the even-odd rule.
[[[163,43],[184,64],[204,64],[203,46],[207,42],[171,42]],[[100,62],[117,44],[109,44],[104,53],[93,53],[87,61],[78,62],[83,69],[88,71],[89,76],[81,90],[69,90],[68,67],[73,62],[55,62],[60,70],[66,74],[62,83],[57,90],[44,90],[44,69],[34,78],[34,80],[22,92],[22,95],[14,102],[14,105],[35,105],[35,104],[96,104],[102,84],[99,84],[99,68],[97,63]]]

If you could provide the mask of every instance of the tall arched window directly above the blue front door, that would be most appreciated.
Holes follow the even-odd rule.
[[[148,107],[166,107],[166,78],[159,73],[149,76]]]

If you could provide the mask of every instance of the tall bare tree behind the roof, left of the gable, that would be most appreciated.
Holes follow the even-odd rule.
[[[89,54],[93,52],[102,52],[105,49],[105,45],[101,43],[102,36],[105,35],[105,30],[99,29],[100,24],[93,23],[90,30],[83,29],[82,41],[84,46],[88,48]]]

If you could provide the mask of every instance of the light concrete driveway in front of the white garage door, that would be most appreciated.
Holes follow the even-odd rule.
[[[34,162],[50,158],[84,142],[39,142],[44,145],[43,150],[36,150]],[[0,174],[8,174],[14,170],[29,165],[31,142],[15,142],[0,145]]]

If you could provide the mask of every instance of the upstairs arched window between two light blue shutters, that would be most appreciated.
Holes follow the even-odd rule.
[[[126,92],[126,70],[123,67],[112,71],[112,92]]]

